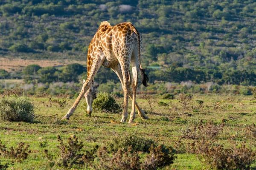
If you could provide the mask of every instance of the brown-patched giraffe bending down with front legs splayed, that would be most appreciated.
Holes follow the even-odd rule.
[[[140,63],[142,49],[142,37],[131,23],[119,23],[111,26],[104,21],[100,24],[98,31],[90,42],[87,53],[87,80],[83,81],[83,87],[73,106],[62,119],[69,119],[76,110],[81,98],[84,96],[87,102],[87,113],[92,113],[93,99],[96,98],[97,86],[93,85],[93,77],[100,66],[111,68],[119,77],[124,91],[124,109],[121,122],[128,117],[128,96],[132,100],[131,116],[128,123],[135,119],[135,107],[142,119],[148,119],[144,111],[136,102],[136,91],[138,85],[138,72],[140,71],[142,83],[148,86],[148,76]],[[129,71],[130,62],[132,66],[133,79]],[[132,86],[132,92],[131,92]]]

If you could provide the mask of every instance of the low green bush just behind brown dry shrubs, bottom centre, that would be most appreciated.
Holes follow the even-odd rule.
[[[145,139],[138,136],[124,136],[124,137],[114,137],[112,141],[108,142],[106,146],[109,151],[117,151],[122,149],[128,151],[129,146],[132,146],[131,152],[148,152],[151,144],[155,145],[155,142],[150,139]]]

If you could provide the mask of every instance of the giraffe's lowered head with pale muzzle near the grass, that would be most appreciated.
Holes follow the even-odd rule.
[[[85,83],[85,80],[83,81],[83,84]],[[88,89],[88,91],[84,94],[84,98],[86,100],[87,103],[87,113],[89,114],[89,116],[91,115],[91,113],[93,112],[93,100],[96,99],[96,90],[99,87],[99,85],[93,85],[93,83],[91,84],[90,88]]]

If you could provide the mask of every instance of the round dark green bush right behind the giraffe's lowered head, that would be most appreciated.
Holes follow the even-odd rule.
[[[83,103],[82,108],[87,108],[87,104]],[[121,107],[116,103],[115,95],[108,93],[98,93],[97,98],[93,100],[93,111],[119,113]]]

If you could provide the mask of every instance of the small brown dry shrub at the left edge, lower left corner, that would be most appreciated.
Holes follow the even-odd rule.
[[[10,147],[10,150],[6,149],[5,144],[2,144],[0,141],[0,153],[4,158],[12,159],[12,161],[22,162],[27,159],[30,150],[28,150],[29,144],[25,144],[23,142],[19,142],[16,148]]]

